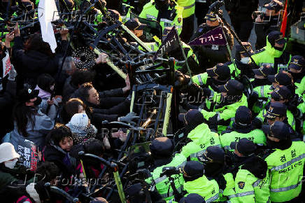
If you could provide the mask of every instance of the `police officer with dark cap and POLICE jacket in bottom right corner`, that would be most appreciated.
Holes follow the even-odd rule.
[[[301,201],[297,197],[302,190],[305,143],[291,141],[288,126],[280,121],[263,125],[262,130],[271,148],[264,159],[271,174],[271,202]]]

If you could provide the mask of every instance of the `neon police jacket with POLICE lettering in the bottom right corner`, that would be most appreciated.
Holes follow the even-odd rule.
[[[266,159],[270,170],[271,202],[290,201],[301,193],[305,143],[292,141],[290,148],[276,149]]]

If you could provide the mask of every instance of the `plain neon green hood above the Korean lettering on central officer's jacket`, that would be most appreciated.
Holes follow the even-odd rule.
[[[191,139],[196,144],[202,144],[205,143],[205,139],[210,137],[208,135],[211,133],[214,132],[211,132],[211,130],[208,128],[208,125],[206,125],[206,123],[201,123],[187,135],[187,138]]]

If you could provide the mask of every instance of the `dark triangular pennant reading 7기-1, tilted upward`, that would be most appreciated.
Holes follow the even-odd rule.
[[[175,31],[175,27],[171,28],[171,31],[169,31],[169,34],[167,34],[165,40],[160,45],[159,49],[155,53],[155,56],[153,59],[156,59],[158,55],[164,55],[166,53],[171,52],[171,50],[176,50],[176,48],[179,48],[179,36],[177,35],[177,32]]]

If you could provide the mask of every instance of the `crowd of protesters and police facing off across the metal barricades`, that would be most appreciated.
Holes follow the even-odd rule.
[[[3,0],[0,20],[35,9],[38,2]],[[225,1],[222,8],[231,25],[222,18],[222,1],[98,2],[83,3],[94,3],[90,15],[97,17],[97,29],[105,29],[101,9],[106,6],[113,19],[152,51],[175,26],[190,66],[190,71],[185,65],[176,67],[176,81],[169,84],[180,98],[180,113],[170,118],[178,120],[179,130],[151,140],[145,164],[138,160],[143,155],[125,155],[125,202],[304,202],[305,49],[298,55],[286,50],[289,31],[283,34],[281,27],[287,2]],[[57,2],[65,12],[81,4]],[[304,2],[301,5],[304,11]],[[138,6],[134,12],[139,18],[125,12],[131,6]],[[164,37],[152,39],[141,19],[159,22]],[[120,202],[120,191],[99,190],[85,197],[80,194],[88,194],[94,184],[73,183],[101,179],[95,181],[98,187],[115,185],[111,171],[104,173],[105,163],[83,158],[80,152],[115,160],[119,166],[124,161],[116,159],[120,148],[130,143],[130,132],[124,127],[113,131],[107,123],[141,123],[140,115],[130,112],[134,78],[129,80],[127,74],[125,80],[105,83],[104,70],[111,60],[106,53],[90,68],[79,67],[69,43],[74,31],[60,29],[52,52],[40,29],[22,36],[18,22],[6,26],[0,42],[0,109],[6,116],[0,123],[1,200],[66,202],[69,194],[81,202]],[[222,27],[226,45],[187,45],[217,27]],[[248,42],[253,28],[255,48]],[[304,26],[299,29],[304,32]],[[242,43],[234,43],[234,37]],[[118,41],[139,43],[126,33]],[[166,54],[183,60],[180,50]],[[191,101],[190,96],[197,95],[200,101]],[[134,174],[138,182],[129,183]],[[62,193],[52,192],[50,186]]]

